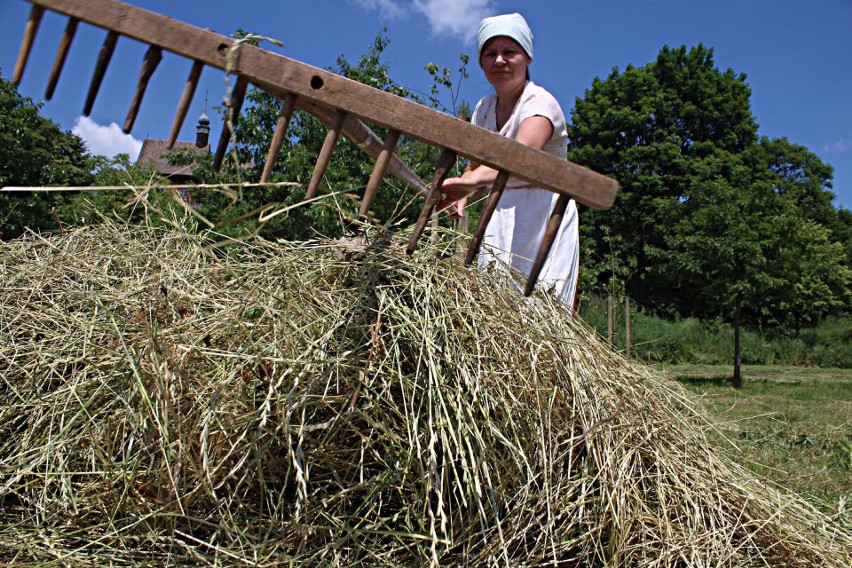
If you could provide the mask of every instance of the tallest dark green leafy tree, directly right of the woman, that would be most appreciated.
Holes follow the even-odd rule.
[[[668,241],[708,182],[743,189],[741,154],[757,137],[749,96],[745,76],[720,72],[713,50],[699,45],[664,47],[645,67],[616,68],[576,101],[569,159],[620,183],[611,210],[582,213],[584,262],[612,264],[615,255],[621,272],[634,275],[627,293],[646,309],[691,311]],[[599,284],[608,280],[599,274]]]

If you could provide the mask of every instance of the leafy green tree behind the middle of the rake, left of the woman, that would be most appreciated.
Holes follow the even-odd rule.
[[[237,35],[245,35],[238,32]],[[451,80],[452,73],[435,64],[428,64],[426,71],[434,80],[431,94],[425,98],[396,83],[391,78],[388,65],[382,60],[382,54],[390,40],[386,30],[382,29],[376,36],[367,52],[358,58],[357,64],[351,63],[345,56],[338,57],[336,67],[332,71],[359,81],[373,88],[392,93],[399,97],[440,107],[440,90],[447,89],[451,104],[461,113],[469,114],[470,105],[458,100],[458,91],[454,90]],[[466,77],[467,56],[462,54],[459,80]],[[240,179],[258,181],[266,161],[273,133],[283,102],[263,90],[251,88],[246,95],[246,104],[237,123],[233,148],[236,151],[236,162],[242,164],[239,171]],[[386,135],[384,128],[369,125],[375,134],[382,138]],[[276,161],[270,181],[300,182],[307,185],[316,164],[317,155],[325,140],[328,126],[314,116],[296,111],[290,123],[288,136]],[[438,150],[417,140],[402,137],[397,145],[397,155],[423,179],[430,179],[438,158]],[[234,159],[226,161],[226,166],[232,166]],[[321,200],[309,207],[295,207],[286,214],[276,216],[269,222],[259,226],[248,218],[232,228],[223,227],[226,232],[259,231],[266,237],[304,239],[317,235],[336,237],[341,234],[346,222],[357,215],[360,200],[363,197],[373,160],[356,145],[342,138],[335,146],[334,155],[326,170],[320,195],[324,192],[339,192],[333,196],[333,206],[330,200]],[[210,172],[202,171],[202,177]],[[237,172],[224,171],[219,179],[233,180]],[[217,177],[215,174],[214,178]],[[217,215],[217,209],[226,208],[231,218],[247,215],[265,204],[275,204],[275,208],[283,209],[300,203],[305,197],[304,188],[268,187],[252,188],[244,191],[239,199],[225,202],[223,196],[205,199],[200,209],[210,218],[223,218]],[[413,221],[417,218],[422,205],[419,196],[410,188],[396,181],[389,174],[379,188],[376,200],[371,208],[374,220],[387,223],[389,221]],[[346,219],[341,219],[343,211]],[[257,219],[257,215],[253,216]],[[341,222],[344,221],[344,222]]]

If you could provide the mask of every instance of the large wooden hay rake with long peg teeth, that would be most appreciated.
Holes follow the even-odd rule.
[[[183,125],[203,68],[209,66],[232,73],[236,77],[236,83],[227,103],[230,120],[225,120],[213,157],[213,164],[217,169],[224,159],[230,143],[231,126],[239,116],[250,84],[282,99],[284,103],[264,164],[261,182],[269,181],[290,119],[298,108],[329,125],[308,184],[306,199],[316,196],[334,146],[341,135],[375,159],[375,166],[359,209],[359,216],[362,218],[367,218],[386,172],[418,191],[426,187],[394,153],[400,136],[404,135],[440,148],[442,152],[432,182],[428,186],[430,190],[406,249],[408,254],[412,254],[417,248],[426,224],[441,200],[444,179],[459,156],[500,172],[488,195],[479,225],[471,238],[464,261],[466,266],[473,262],[479,251],[485,229],[509,178],[518,178],[534,187],[558,194],[559,198],[547,222],[541,247],[527,280],[524,290],[526,295],[530,295],[535,287],[569,201],[574,199],[595,209],[608,209],[615,201],[618,184],[611,178],[330,71],[245,43],[237,45],[238,40],[210,30],[116,0],[27,1],[33,7],[24,29],[12,76],[15,85],[21,81],[44,11],[50,10],[69,18],[48,80],[45,93],[47,99],[50,99],[56,88],[79,22],[83,21],[107,31],[86,96],[84,115],[88,116],[92,110],[118,39],[126,36],[148,45],[133,100],[124,121],[124,131],[127,133],[133,128],[148,82],[162,59],[163,51],[185,57],[192,62],[169,134],[169,147],[173,146]],[[385,139],[380,140],[362,121],[386,128],[388,133]]]

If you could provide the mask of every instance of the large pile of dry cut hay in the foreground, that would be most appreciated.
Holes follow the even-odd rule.
[[[428,246],[203,244],[0,244],[0,563],[850,563],[546,295]]]

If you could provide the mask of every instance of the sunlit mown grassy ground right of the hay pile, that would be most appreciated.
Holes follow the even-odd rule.
[[[702,397],[734,459],[852,523],[852,370],[746,366],[739,390],[730,366],[663,370]]]

